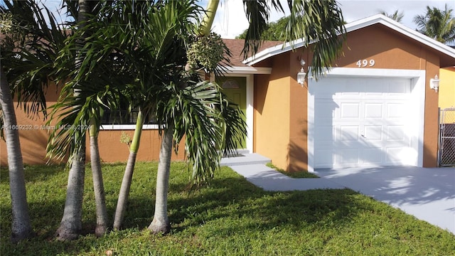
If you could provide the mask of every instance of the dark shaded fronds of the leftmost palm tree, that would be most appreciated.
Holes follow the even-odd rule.
[[[44,91],[53,80],[53,63],[63,48],[65,33],[55,16],[36,1],[5,1],[1,12],[9,12],[16,27],[2,42],[1,63],[11,91],[27,114],[46,116]]]

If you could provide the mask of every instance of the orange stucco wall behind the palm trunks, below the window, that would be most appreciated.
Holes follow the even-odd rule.
[[[46,93],[48,106],[53,105],[57,100],[55,87],[49,87]],[[17,105],[17,103],[16,103]],[[24,164],[45,164],[48,159],[45,158],[45,148],[48,142],[48,131],[45,129],[45,121],[41,118],[30,118],[21,110],[16,109],[16,118],[19,127],[19,137],[21,141],[21,151]],[[127,161],[129,149],[127,144],[120,142],[122,132],[133,137],[134,130],[102,130],[98,137],[100,148],[100,158],[105,162]],[[89,140],[87,139],[87,145]],[[146,129],[142,132],[137,161],[155,161],[159,158],[159,148],[161,139],[157,129]],[[184,159],[184,144],[180,143],[180,153],[173,154],[173,160]],[[90,147],[87,146],[87,161],[90,161]],[[6,143],[0,141],[0,165],[6,166],[7,152]]]

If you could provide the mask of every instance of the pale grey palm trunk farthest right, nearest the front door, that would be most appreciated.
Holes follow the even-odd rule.
[[[159,151],[158,176],[156,177],[156,200],[154,219],[149,225],[149,230],[154,233],[169,233],[171,223],[168,219],[168,188],[169,172],[172,156],[173,124],[168,124],[161,140]]]

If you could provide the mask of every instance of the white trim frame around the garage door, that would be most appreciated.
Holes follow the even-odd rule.
[[[411,139],[411,147],[417,151],[417,159],[412,165],[423,166],[424,151],[424,115],[425,115],[425,70],[394,70],[373,68],[333,68],[325,77],[336,78],[409,78],[412,82],[411,98],[412,108],[417,112],[414,119],[417,131]],[[323,78],[322,78],[323,79]],[[308,81],[308,171],[314,171],[314,87],[317,82],[313,79]]]

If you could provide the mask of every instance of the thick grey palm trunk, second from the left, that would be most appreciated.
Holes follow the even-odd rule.
[[[65,210],[55,235],[58,240],[75,240],[82,230],[82,198],[84,196],[85,145],[77,152],[68,174]]]

